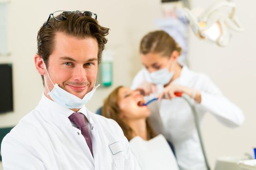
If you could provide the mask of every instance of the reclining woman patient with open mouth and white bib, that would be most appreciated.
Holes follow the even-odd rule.
[[[104,101],[102,116],[118,122],[141,170],[178,170],[167,141],[162,135],[156,136],[152,129],[148,119],[150,110],[143,103],[139,91],[119,86]]]

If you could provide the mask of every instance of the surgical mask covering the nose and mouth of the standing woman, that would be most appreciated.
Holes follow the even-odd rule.
[[[174,75],[174,65],[171,72],[169,72],[168,70],[169,66],[170,64],[168,64],[165,68],[149,73],[152,83],[156,85],[166,85],[167,83],[169,83]]]

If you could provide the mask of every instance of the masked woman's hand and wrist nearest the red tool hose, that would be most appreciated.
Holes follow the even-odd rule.
[[[196,102],[201,102],[201,93],[193,88],[185,87],[182,85],[177,84],[170,84],[166,86],[163,90],[163,92],[158,96],[159,100],[165,99],[173,99],[177,96],[175,95],[176,92],[181,92],[187,94],[189,97],[194,99]]]

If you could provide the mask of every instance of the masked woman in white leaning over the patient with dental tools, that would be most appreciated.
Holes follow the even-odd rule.
[[[191,108],[174,93],[183,92],[194,99],[199,121],[209,112],[222,124],[236,127],[244,116],[206,75],[179,65],[180,52],[175,40],[164,31],[146,34],[140,42],[144,68],[135,76],[131,88],[159,97],[162,133],[174,144],[180,170],[206,170]]]

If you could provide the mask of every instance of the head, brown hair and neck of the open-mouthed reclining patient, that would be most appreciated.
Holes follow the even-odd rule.
[[[141,102],[144,102],[144,99],[139,91],[119,86],[105,100],[102,116],[116,120],[129,141],[135,136],[149,140],[156,134],[148,120],[148,107],[138,106]]]

